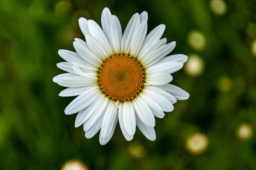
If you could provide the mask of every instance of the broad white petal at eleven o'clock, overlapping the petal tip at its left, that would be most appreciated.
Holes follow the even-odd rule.
[[[101,45],[101,47],[103,47],[108,56],[112,55],[112,49],[110,47],[109,41],[104,32],[102,31],[101,27],[97,24],[97,22],[95,22],[94,20],[88,20],[88,28],[92,37],[99,42],[99,44]],[[85,39],[87,41],[86,37]]]

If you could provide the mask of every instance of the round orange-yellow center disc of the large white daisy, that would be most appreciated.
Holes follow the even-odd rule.
[[[131,56],[116,55],[108,58],[99,70],[102,92],[117,101],[134,98],[143,87],[144,71],[141,64]]]

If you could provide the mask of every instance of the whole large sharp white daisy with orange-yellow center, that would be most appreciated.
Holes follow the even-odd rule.
[[[104,8],[101,27],[94,20],[79,18],[85,40],[75,38],[76,52],[58,51],[66,62],[57,67],[67,73],[53,81],[68,87],[59,96],[77,96],[64,112],[78,112],[75,127],[83,125],[87,139],[100,131],[99,142],[105,145],[119,122],[127,141],[132,140],[136,126],[154,141],[155,117],[163,118],[177,100],[189,98],[183,89],[169,84],[187,56],[167,56],[176,42],[161,39],[163,24],[147,34],[147,20],[146,11],[135,13],[123,34],[117,16]]]

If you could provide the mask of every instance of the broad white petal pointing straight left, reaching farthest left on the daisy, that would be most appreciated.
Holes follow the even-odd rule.
[[[97,79],[86,78],[72,73],[59,74],[52,81],[63,87],[85,87],[98,84]]]

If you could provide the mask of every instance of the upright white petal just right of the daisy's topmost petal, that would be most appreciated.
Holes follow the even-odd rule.
[[[110,20],[110,35],[111,35],[111,44],[113,51],[116,54],[121,53],[121,41],[122,41],[122,27],[117,16],[112,16]]]

